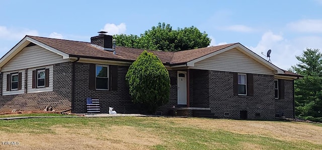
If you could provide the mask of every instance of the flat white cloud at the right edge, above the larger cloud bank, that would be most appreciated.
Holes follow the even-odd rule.
[[[289,23],[287,27],[296,32],[322,33],[322,20],[304,19]]]

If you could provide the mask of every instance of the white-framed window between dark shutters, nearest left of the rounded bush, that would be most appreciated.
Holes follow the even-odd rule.
[[[96,89],[109,89],[109,67],[96,65]]]

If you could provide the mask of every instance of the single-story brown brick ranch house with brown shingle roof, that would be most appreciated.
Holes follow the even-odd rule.
[[[89,42],[26,36],[0,59],[0,112],[43,110],[85,113],[99,100],[120,113],[137,112],[125,82],[143,50],[117,46],[99,34]],[[294,117],[294,80],[240,43],[180,52],[150,51],[169,70],[170,102],[179,115],[236,119]],[[207,114],[204,114],[207,113]]]

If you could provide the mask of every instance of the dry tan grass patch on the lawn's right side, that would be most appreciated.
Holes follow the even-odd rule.
[[[226,131],[275,137],[282,140],[306,140],[322,144],[322,127],[304,122],[249,121],[200,118],[173,118],[182,125],[193,125],[204,129],[224,129]]]

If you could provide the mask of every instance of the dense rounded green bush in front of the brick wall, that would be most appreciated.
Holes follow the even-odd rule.
[[[133,103],[140,104],[144,110],[152,113],[169,102],[169,72],[153,53],[143,51],[129,67],[125,80]]]

